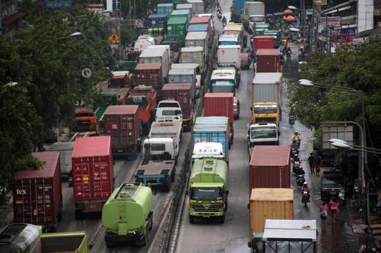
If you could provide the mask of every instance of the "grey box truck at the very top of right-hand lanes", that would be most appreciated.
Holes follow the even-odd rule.
[[[245,29],[253,33],[256,24],[265,23],[265,3],[245,1],[241,16]]]

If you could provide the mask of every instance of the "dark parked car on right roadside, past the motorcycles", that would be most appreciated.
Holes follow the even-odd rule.
[[[325,171],[320,180],[320,195],[322,201],[338,199],[339,192],[345,192],[343,175],[339,171]]]

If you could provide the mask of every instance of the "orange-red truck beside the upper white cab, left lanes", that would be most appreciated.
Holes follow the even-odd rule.
[[[125,103],[139,106],[139,119],[144,133],[150,131],[150,125],[155,120],[156,94],[157,92],[151,86],[135,86]]]

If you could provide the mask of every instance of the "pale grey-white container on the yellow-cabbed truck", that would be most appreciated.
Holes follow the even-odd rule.
[[[256,73],[252,82],[253,103],[277,102],[280,104],[282,73]]]

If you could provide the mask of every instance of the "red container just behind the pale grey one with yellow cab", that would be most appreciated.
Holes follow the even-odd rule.
[[[278,49],[258,49],[256,73],[281,72]]]

